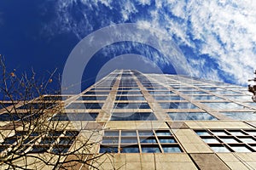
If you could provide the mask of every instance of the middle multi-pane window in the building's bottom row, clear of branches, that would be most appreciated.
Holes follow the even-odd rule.
[[[100,153],[182,152],[169,130],[105,131]]]

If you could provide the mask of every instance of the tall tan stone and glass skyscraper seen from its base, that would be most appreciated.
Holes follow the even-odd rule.
[[[116,70],[81,94],[45,95],[43,100],[48,99],[62,99],[65,105],[49,120],[69,123],[55,141],[73,136],[61,152],[96,131],[91,154],[109,153],[90,162],[100,169],[256,169],[256,103],[247,88]],[[7,131],[4,112],[0,120]],[[2,151],[15,142],[12,135],[17,134],[2,140]],[[26,151],[37,154],[42,141],[34,139]],[[47,144],[47,152],[55,152],[55,142]]]

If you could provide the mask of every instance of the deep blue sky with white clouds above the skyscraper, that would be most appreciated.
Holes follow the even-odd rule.
[[[47,77],[47,71],[55,68],[61,74],[73,48],[91,32],[113,24],[137,23],[172,37],[194,77],[246,85],[256,69],[255,8],[250,0],[3,0],[0,54],[10,70],[33,69],[38,78]],[[102,65],[125,53],[164,58],[143,44],[113,44],[94,56],[84,85],[93,82]],[[160,59],[156,64],[163,72],[175,73],[172,65]]]

